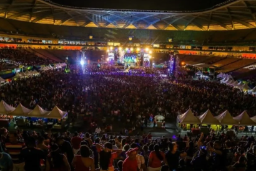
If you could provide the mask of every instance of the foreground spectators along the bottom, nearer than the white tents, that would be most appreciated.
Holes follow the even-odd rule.
[[[0,168],[4,171],[254,171],[253,136],[228,134],[154,139],[150,134],[97,136],[51,131],[8,132],[2,128]]]

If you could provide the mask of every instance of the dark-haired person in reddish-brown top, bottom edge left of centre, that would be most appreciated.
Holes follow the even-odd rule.
[[[72,161],[75,171],[95,171],[94,160],[90,157],[90,149],[83,145],[80,148],[81,155],[76,155]]]

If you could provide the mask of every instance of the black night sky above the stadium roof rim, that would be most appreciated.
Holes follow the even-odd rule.
[[[58,4],[76,7],[143,10],[202,10],[225,0],[51,0]]]

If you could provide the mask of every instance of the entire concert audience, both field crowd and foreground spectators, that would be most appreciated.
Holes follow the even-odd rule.
[[[98,125],[103,117],[111,117],[125,127],[143,127],[157,114],[176,118],[189,108],[196,116],[207,109],[214,115],[226,109],[233,116],[244,110],[250,116],[255,113],[254,96],[217,81],[172,80],[160,76],[167,71],[157,68],[121,70],[77,70],[72,66],[69,73],[64,69],[48,70],[1,86],[1,99],[11,106],[21,103],[29,109],[36,104],[48,111],[58,106],[68,111],[69,118],[84,114],[92,116]],[[224,133],[202,134],[195,139],[154,139],[150,134],[99,137],[101,131],[97,129],[97,134],[94,130],[74,132],[72,137],[70,132],[1,129],[0,167],[8,171],[256,169],[254,137],[239,140]]]

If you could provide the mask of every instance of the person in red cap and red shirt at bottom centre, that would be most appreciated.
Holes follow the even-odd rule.
[[[128,157],[122,164],[122,171],[138,171],[139,168],[136,160],[137,148],[129,149],[126,155],[128,155]]]

